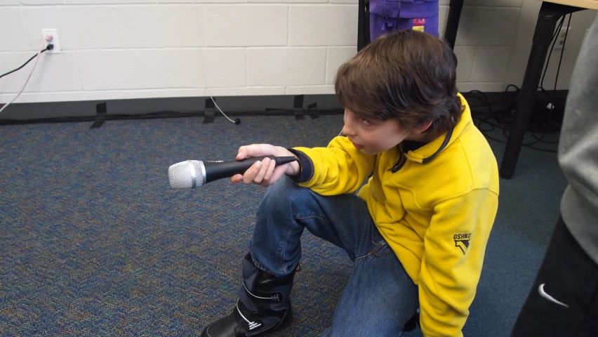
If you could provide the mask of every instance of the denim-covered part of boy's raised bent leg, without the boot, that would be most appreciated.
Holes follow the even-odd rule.
[[[322,196],[286,178],[270,186],[258,207],[249,242],[255,265],[277,277],[295,270],[305,228],[345,249],[351,260],[382,240],[365,201],[356,194]]]

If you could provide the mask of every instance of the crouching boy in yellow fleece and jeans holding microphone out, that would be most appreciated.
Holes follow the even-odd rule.
[[[498,168],[455,71],[451,48],[432,35],[385,34],[338,70],[345,137],[325,148],[239,148],[237,159],[298,161],[264,159],[231,178],[276,184],[256,214],[239,301],[201,336],[255,336],[291,321],[305,228],[354,261],[323,336],[399,336],[418,308],[425,336],[463,336],[498,207]]]

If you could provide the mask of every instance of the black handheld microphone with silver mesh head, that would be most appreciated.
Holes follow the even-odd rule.
[[[295,157],[249,157],[243,160],[200,161],[187,160],[173,164],[168,168],[168,180],[173,188],[195,188],[211,181],[242,174],[255,163],[265,158],[274,160],[278,165],[291,163]]]

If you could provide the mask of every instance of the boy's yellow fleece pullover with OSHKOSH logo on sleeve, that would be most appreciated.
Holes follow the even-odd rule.
[[[371,176],[358,195],[418,285],[427,337],[463,336],[498,209],[496,158],[460,97],[465,110],[453,131],[404,155],[402,146],[367,155],[345,137],[294,149],[313,165],[300,185],[319,194],[355,192]]]

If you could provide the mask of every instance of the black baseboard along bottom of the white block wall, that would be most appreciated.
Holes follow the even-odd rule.
[[[555,97],[564,102],[566,92],[557,91]],[[479,96],[482,95],[490,103],[510,102],[507,104],[513,107],[517,102],[517,93],[470,91],[463,95],[471,106],[479,105]],[[547,95],[539,92],[540,96]],[[215,98],[215,102],[229,117],[294,115],[302,119],[304,115],[315,118],[324,114],[343,113],[343,107],[333,94],[223,96]],[[176,117],[199,117],[211,122],[214,117],[222,117],[222,114],[215,109],[209,97],[18,103],[1,114],[0,125],[94,121],[95,126],[99,127],[103,122],[114,119]]]

